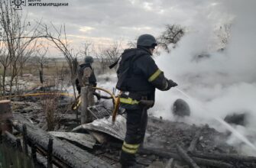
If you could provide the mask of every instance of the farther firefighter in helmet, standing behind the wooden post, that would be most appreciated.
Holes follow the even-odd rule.
[[[82,78],[83,76],[83,70],[86,68],[86,67],[89,67],[90,69],[92,69],[92,63],[93,63],[93,58],[90,57],[90,56],[87,56],[85,58],[85,63],[79,65],[79,68],[78,68],[78,76],[80,76],[80,78]],[[94,87],[97,86],[97,80],[96,80],[96,76],[94,74],[94,71],[92,69],[92,73],[91,75],[89,76],[89,85],[92,85]],[[76,79],[76,89],[78,91],[78,93],[80,94],[81,92],[81,85],[79,83],[79,79]]]

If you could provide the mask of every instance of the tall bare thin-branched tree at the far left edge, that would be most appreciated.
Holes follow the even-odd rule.
[[[24,63],[34,52],[38,31],[38,24],[31,27],[31,24],[22,19],[21,11],[11,8],[11,2],[0,0],[0,42],[2,43],[2,53],[0,63],[3,66],[2,72],[2,93],[5,95],[5,77],[10,73],[9,94],[11,95],[14,79],[21,72]],[[33,42],[33,43],[32,43]]]

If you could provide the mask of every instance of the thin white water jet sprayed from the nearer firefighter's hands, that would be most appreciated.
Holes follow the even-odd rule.
[[[190,99],[193,101],[193,98],[190,96],[190,95],[187,95],[185,92],[183,92],[182,90],[178,89],[178,88],[175,88],[177,89],[177,91],[179,91],[180,93],[182,93],[183,95],[186,96],[187,99]],[[195,101],[193,101],[195,102]],[[214,114],[213,111],[211,111],[210,109],[204,107],[203,105],[199,105],[199,103],[195,102],[195,104],[199,107],[199,108],[203,108],[203,110],[206,110],[206,111],[210,111],[210,114]],[[254,149],[256,151],[256,147],[254,146],[254,144],[252,144],[250,141],[248,141],[248,139],[240,134],[238,131],[235,130],[235,128],[232,128],[232,126],[230,124],[228,124],[227,122],[225,122],[222,118],[219,118],[219,117],[216,117],[214,115],[211,115],[212,118],[214,118],[216,121],[219,121],[219,123],[223,124],[225,126],[225,128],[228,129],[228,131],[231,131],[233,134],[235,134],[235,137],[238,137],[239,140],[243,141],[245,144],[247,144],[249,147],[251,147],[252,149]]]

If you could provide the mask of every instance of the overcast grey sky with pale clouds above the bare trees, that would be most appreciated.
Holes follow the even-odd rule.
[[[39,2],[40,0],[37,0]],[[35,1],[36,2],[36,1]],[[192,31],[223,24],[232,18],[218,0],[41,0],[68,6],[23,6],[28,20],[66,25],[68,38],[78,46],[84,41],[109,44],[112,40],[134,40],[140,34],[159,36],[166,24],[180,24]],[[215,25],[212,25],[214,23]]]

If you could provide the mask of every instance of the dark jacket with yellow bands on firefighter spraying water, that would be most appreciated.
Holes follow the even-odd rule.
[[[118,67],[116,88],[121,90],[121,106],[134,108],[141,99],[154,100],[155,89],[166,90],[168,81],[144,48],[125,50]]]

